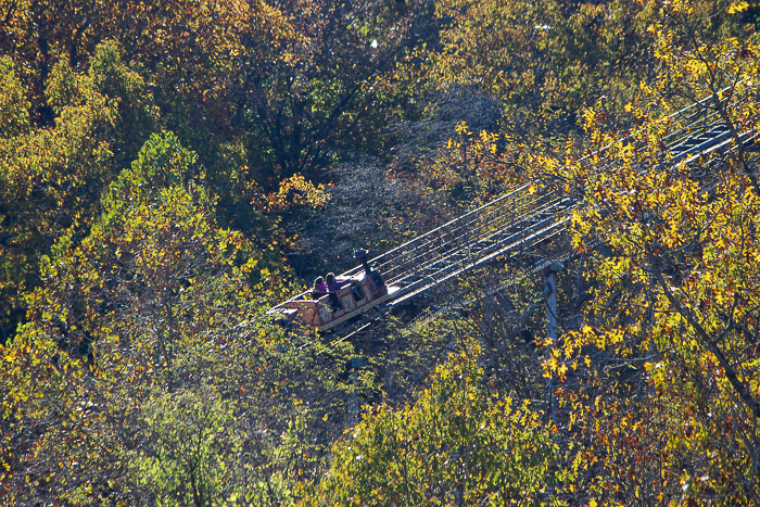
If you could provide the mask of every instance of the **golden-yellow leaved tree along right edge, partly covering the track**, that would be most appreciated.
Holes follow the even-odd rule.
[[[702,8],[712,9],[673,7],[677,15]],[[715,23],[694,15],[689,29],[694,20]],[[758,502],[757,161],[734,135],[725,151],[691,165],[663,142],[695,127],[669,113],[688,104],[674,97],[696,89],[708,99],[692,102],[689,115],[713,114],[737,132],[756,128],[752,101],[726,104],[717,93],[722,84],[732,99],[751,93],[745,77],[756,62],[725,56],[734,41],[707,42],[704,29],[705,40],[686,30],[691,46],[680,46],[681,21],[654,28],[662,77],[628,104],[642,127],[615,140],[603,134],[603,116],[586,111],[595,148],[552,164],[584,191],[573,245],[587,253],[596,287],[585,326],[546,366],[581,379],[557,391],[568,434],[590,462],[579,490],[609,505],[630,499],[626,492],[643,505]]]

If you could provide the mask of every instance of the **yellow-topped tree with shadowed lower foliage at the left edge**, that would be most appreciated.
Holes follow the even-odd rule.
[[[98,68],[118,72],[109,53],[101,48]],[[89,227],[100,189],[114,175],[112,135],[118,114],[117,103],[98,90],[98,72],[77,75],[62,62],[52,69],[48,89],[56,123],[35,128],[30,98],[16,68],[3,58],[1,114],[9,125],[0,137],[3,339],[22,319],[24,293],[38,284],[40,256],[60,236],[77,237]]]

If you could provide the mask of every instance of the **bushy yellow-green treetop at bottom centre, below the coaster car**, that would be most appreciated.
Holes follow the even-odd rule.
[[[315,505],[563,505],[552,426],[490,393],[465,355],[413,406],[380,406],[333,448]],[[309,504],[309,502],[307,502]]]

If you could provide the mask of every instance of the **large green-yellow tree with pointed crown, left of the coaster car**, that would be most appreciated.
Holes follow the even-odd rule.
[[[325,466],[351,393],[376,391],[369,372],[340,379],[350,343],[268,322],[279,264],[216,225],[202,183],[195,155],[154,135],[89,235],[42,258],[2,348],[3,500],[284,502]]]

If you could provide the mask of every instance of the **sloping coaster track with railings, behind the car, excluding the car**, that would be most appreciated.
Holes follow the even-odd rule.
[[[726,89],[727,90],[727,89]],[[734,93],[724,93],[720,105],[724,112],[736,107],[744,100]],[[739,125],[737,134],[726,125],[713,98],[685,107],[666,118],[677,126],[662,139],[663,165],[691,163],[714,151],[731,152],[738,149],[736,140],[745,149],[755,143],[757,118]],[[633,140],[623,142],[643,148]],[[595,163],[605,167],[615,164],[609,147],[600,150]],[[586,162],[582,160],[581,162]],[[398,305],[418,296],[441,283],[465,275],[474,268],[504,255],[520,255],[533,251],[542,243],[558,237],[566,228],[578,200],[559,191],[536,191],[529,185],[510,189],[501,198],[465,215],[426,232],[370,261],[382,272],[388,286],[398,288],[389,305]],[[355,275],[360,267],[343,276]]]

